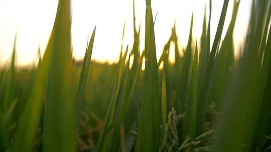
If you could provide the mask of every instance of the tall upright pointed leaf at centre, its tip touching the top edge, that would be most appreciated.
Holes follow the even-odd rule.
[[[146,0],[145,75],[135,151],[158,151],[161,143],[161,102],[151,0]]]

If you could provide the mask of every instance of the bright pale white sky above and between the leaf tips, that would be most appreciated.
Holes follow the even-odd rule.
[[[223,0],[212,0],[211,39],[217,28]],[[17,33],[17,64],[29,65],[37,60],[38,47],[44,52],[53,27],[58,0],[0,0],[0,63],[11,56],[15,33]],[[176,18],[179,44],[185,46],[194,12],[194,39],[200,38],[204,7],[209,0],[152,0],[155,23],[156,47],[161,55],[171,27]],[[236,47],[246,30],[251,0],[241,0],[234,30]],[[230,0],[225,26],[227,28],[233,7]],[[145,0],[135,0],[136,25],[142,24],[141,49],[144,48]],[[208,15],[207,15],[208,16]],[[208,18],[207,18],[208,19]],[[92,59],[114,62],[118,59],[122,28],[126,21],[123,44],[133,43],[132,0],[72,0],[72,43],[76,59],[84,57],[87,36],[95,25],[96,34]],[[224,28],[224,33],[225,29]]]

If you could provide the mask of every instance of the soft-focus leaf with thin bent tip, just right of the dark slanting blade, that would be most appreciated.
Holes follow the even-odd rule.
[[[214,102],[217,110],[220,110],[221,108],[221,100],[228,87],[229,76],[232,74],[232,69],[234,68],[233,29],[236,21],[238,7],[239,2],[235,0],[233,3],[231,22],[216,57],[217,61],[214,79],[209,94],[209,104]]]

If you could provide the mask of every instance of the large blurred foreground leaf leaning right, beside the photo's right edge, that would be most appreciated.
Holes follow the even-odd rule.
[[[255,9],[254,1],[252,2],[245,47],[235,69],[231,91],[224,97],[227,104],[224,105],[222,112],[225,114],[222,115],[219,123],[220,130],[217,132],[218,138],[213,151],[253,151],[253,141],[262,105],[262,100],[259,100],[261,59],[258,56],[262,32],[258,30],[258,26],[262,24],[263,19],[256,14],[265,11],[267,1],[256,2],[260,7]],[[231,134],[235,135],[234,138]]]

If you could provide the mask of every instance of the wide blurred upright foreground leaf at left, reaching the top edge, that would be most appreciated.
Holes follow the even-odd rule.
[[[43,151],[75,151],[70,0],[59,0],[44,110]]]

